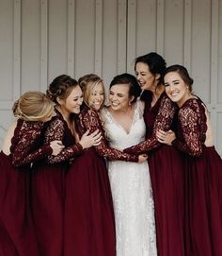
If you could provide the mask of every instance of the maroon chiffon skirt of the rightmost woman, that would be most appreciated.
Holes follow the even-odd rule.
[[[214,146],[184,156],[187,256],[222,256],[222,160]]]

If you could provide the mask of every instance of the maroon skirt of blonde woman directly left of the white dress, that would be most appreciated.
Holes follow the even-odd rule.
[[[115,256],[113,203],[105,162],[89,148],[66,178],[64,256]]]

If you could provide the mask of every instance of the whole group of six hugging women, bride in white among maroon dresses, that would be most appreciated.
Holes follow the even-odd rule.
[[[56,77],[0,153],[0,256],[222,256],[222,160],[185,67]]]

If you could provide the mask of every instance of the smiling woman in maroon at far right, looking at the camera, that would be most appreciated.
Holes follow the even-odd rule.
[[[186,255],[222,255],[222,160],[214,148],[209,113],[192,94],[193,79],[181,65],[164,73],[168,97],[176,102],[177,137],[172,131],[159,131],[161,143],[182,152],[186,175]]]

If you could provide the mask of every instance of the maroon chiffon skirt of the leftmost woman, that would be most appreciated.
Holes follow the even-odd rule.
[[[38,256],[30,208],[30,169],[0,152],[0,256]]]

